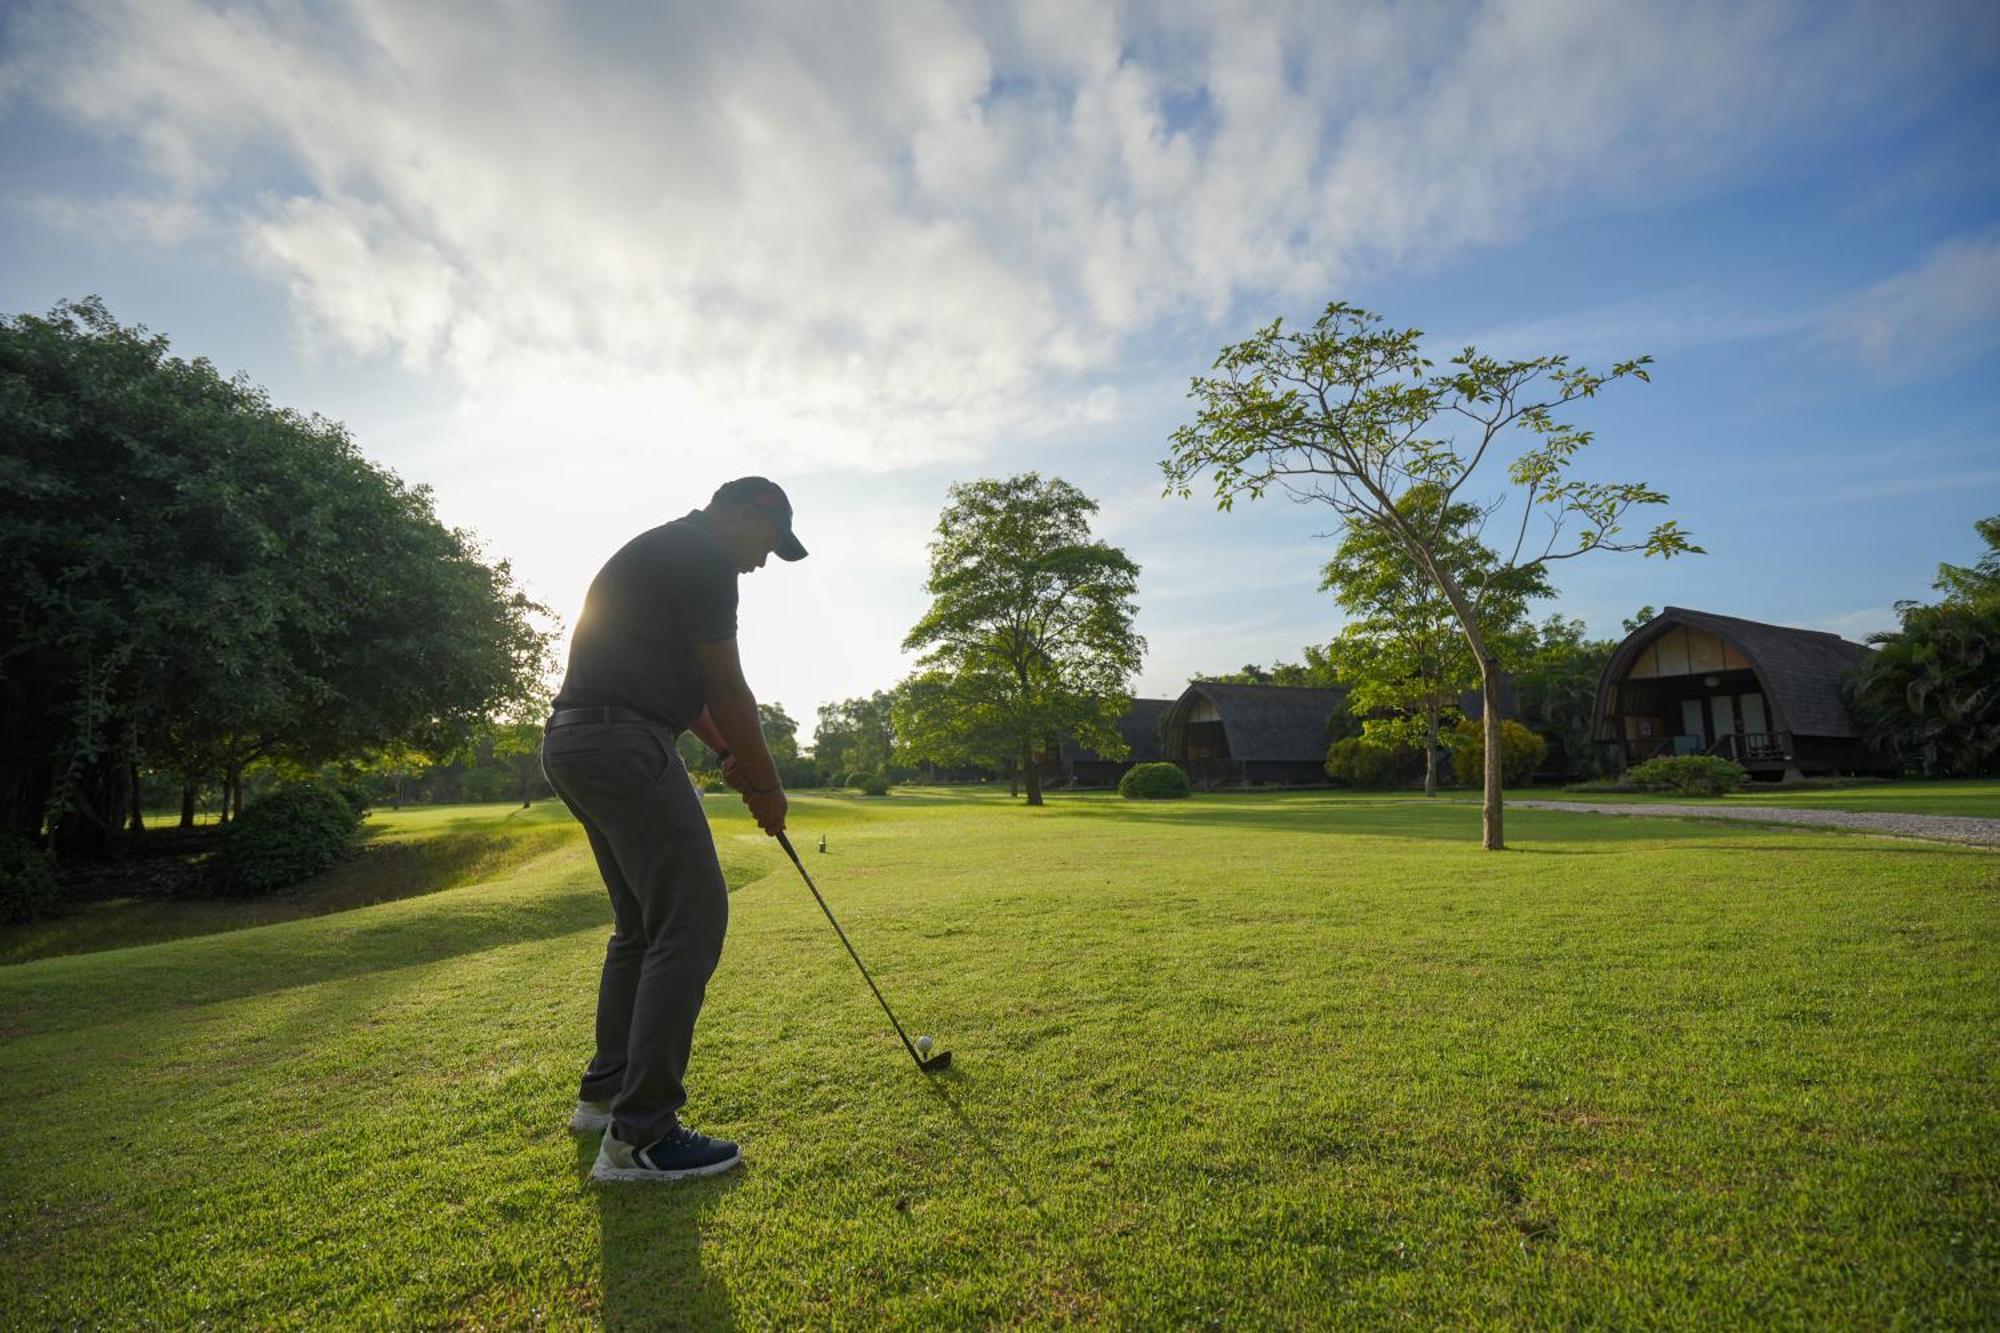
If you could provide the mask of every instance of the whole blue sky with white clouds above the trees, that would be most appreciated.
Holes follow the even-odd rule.
[[[760,697],[892,685],[954,480],[1144,568],[1142,693],[1296,658],[1330,516],[1160,494],[1188,376],[1360,302],[1442,356],[1650,352],[1578,412],[1706,556],[1558,568],[1862,636],[2000,512],[2000,6],[4,6],[0,310],[102,294],[346,420],[574,620],[766,472]],[[1488,494],[1500,496],[1498,474]],[[1662,516],[1664,516],[1662,514]]]

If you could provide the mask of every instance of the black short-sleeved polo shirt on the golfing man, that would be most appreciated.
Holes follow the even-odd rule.
[[[584,596],[558,709],[638,709],[674,731],[706,703],[696,644],[736,636],[736,566],[702,510],[618,548]]]

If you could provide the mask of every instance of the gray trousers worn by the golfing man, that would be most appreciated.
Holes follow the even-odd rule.
[[[590,837],[616,923],[578,1097],[610,1103],[620,1143],[652,1145],[688,1101],[694,1019],[730,923],[716,839],[664,727],[554,727],[542,773]]]

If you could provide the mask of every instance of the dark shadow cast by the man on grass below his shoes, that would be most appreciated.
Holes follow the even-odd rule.
[[[702,1267],[702,1223],[736,1189],[748,1165],[658,1185],[590,1179],[598,1137],[576,1143],[576,1175],[596,1197],[604,1251],[604,1327],[734,1329],[728,1287]]]

